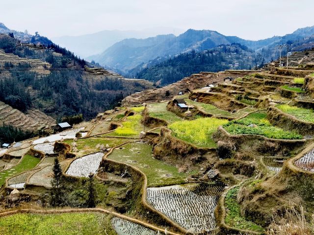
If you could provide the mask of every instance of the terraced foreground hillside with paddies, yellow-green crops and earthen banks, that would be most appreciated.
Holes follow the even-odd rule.
[[[0,149],[4,235],[66,234],[61,219],[86,234],[313,234],[314,50],[278,65],[196,73]]]

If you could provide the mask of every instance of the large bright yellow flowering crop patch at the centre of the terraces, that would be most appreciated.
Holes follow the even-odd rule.
[[[169,125],[173,135],[179,139],[195,143],[204,147],[215,147],[215,142],[211,135],[221,125],[228,122],[226,119],[218,118],[198,118],[195,120],[176,121]]]

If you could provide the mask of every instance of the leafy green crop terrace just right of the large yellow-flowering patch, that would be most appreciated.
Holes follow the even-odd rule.
[[[223,127],[232,135],[261,135],[271,139],[301,140],[303,137],[295,132],[284,131],[274,127],[266,119],[266,113],[259,112],[248,115],[246,118],[231,121]],[[255,124],[257,126],[250,127]]]

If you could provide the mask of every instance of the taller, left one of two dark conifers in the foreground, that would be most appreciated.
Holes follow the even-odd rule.
[[[61,206],[62,205],[62,193],[64,192],[64,179],[62,175],[62,169],[59,160],[54,159],[54,165],[52,168],[53,179],[52,179],[52,191],[51,191],[51,205]]]

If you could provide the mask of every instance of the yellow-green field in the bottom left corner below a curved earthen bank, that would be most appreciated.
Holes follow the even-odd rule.
[[[0,218],[1,235],[117,235],[101,213],[14,214]]]

